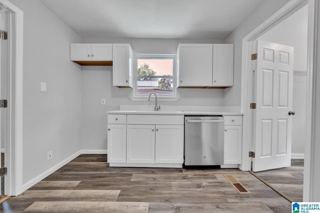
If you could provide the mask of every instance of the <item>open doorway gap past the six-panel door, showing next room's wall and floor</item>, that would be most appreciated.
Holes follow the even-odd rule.
[[[258,38],[258,40],[294,47],[292,111],[295,112],[295,115],[292,116],[290,140],[291,166],[255,173],[291,202],[302,202],[303,194],[303,161],[306,141],[307,18],[308,5],[305,5]]]

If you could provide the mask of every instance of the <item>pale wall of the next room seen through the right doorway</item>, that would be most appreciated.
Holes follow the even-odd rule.
[[[307,22],[308,5],[305,5],[258,38],[294,47],[292,157],[304,154]]]

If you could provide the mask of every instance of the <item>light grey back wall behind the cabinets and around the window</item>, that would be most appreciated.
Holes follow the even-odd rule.
[[[179,43],[223,43],[221,39],[143,39],[82,38],[83,43],[130,43],[134,53],[176,54]],[[222,106],[223,89],[178,89],[177,101],[158,101],[159,105]],[[131,101],[132,88],[112,86],[112,67],[82,66],[82,131],[81,148],[106,150],[106,112],[118,110],[120,104],[147,105],[147,101]],[[100,99],[106,105],[100,105]],[[151,103],[154,104],[154,103]]]

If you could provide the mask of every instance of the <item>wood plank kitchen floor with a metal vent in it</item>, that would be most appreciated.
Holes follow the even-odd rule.
[[[223,175],[251,194],[238,194]],[[110,168],[106,155],[80,155],[0,205],[13,213],[285,213],[291,203],[238,169]]]

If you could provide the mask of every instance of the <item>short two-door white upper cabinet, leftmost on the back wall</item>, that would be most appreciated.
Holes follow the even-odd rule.
[[[112,44],[70,43],[71,61],[111,61]]]

